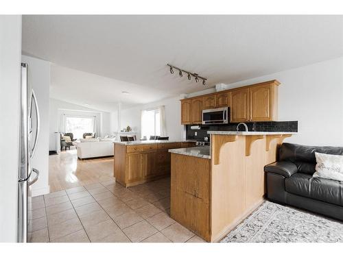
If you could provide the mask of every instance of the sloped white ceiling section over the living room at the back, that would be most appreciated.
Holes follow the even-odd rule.
[[[154,93],[150,89],[51,64],[50,97],[80,106],[112,112],[117,110],[118,102],[122,103],[122,108],[128,108],[171,96],[161,89],[155,88]],[[122,94],[123,91],[129,95]]]

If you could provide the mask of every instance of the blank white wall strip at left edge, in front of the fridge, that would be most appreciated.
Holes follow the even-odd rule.
[[[17,241],[21,15],[0,15],[0,242]]]

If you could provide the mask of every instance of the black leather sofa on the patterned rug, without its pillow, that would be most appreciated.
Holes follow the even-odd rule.
[[[343,182],[314,178],[315,152],[343,154],[343,147],[283,143],[278,162],[266,165],[267,198],[343,221]]]

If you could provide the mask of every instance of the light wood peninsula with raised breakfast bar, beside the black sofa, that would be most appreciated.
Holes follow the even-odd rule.
[[[209,242],[220,241],[262,202],[263,167],[294,132],[213,131],[209,155],[171,152],[171,218]],[[198,149],[198,151],[201,151]]]

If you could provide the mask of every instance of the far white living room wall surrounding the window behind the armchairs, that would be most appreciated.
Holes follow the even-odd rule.
[[[99,110],[78,106],[77,104],[67,103],[58,99],[50,98],[50,128],[49,128],[49,149],[51,151],[59,148],[59,137],[55,132],[60,131],[60,115],[64,114],[84,114],[91,113],[97,117],[97,126],[99,127],[99,135],[106,136],[110,133],[110,113]]]

